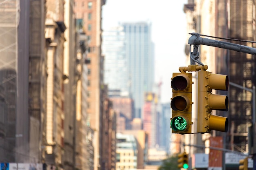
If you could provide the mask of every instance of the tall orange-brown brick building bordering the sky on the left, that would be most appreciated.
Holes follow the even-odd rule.
[[[94,170],[104,167],[103,127],[105,86],[103,82],[104,56],[101,54],[101,8],[106,0],[74,0],[75,18],[83,19],[83,31],[88,40],[88,99],[87,114],[90,128],[94,130]]]

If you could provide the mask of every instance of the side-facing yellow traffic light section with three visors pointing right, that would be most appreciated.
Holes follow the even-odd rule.
[[[211,92],[213,89],[227,91],[228,86],[227,75],[198,71],[198,133],[207,133],[211,130],[227,132],[227,117],[212,115],[211,110],[227,111],[229,99],[226,95]]]

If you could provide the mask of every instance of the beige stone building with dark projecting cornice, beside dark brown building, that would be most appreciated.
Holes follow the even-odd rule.
[[[47,114],[46,114],[46,163],[63,167],[64,147],[64,2],[46,2],[45,37],[52,43],[47,49]],[[59,10],[56,10],[59,9]]]

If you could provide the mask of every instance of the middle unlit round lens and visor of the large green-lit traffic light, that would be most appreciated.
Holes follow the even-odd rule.
[[[186,111],[190,104],[190,100],[186,95],[177,95],[171,100],[171,108],[175,111]]]

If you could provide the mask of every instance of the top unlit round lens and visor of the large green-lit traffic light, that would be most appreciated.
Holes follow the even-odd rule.
[[[190,84],[190,79],[186,75],[177,75],[171,81],[171,86],[175,91],[185,91]]]

